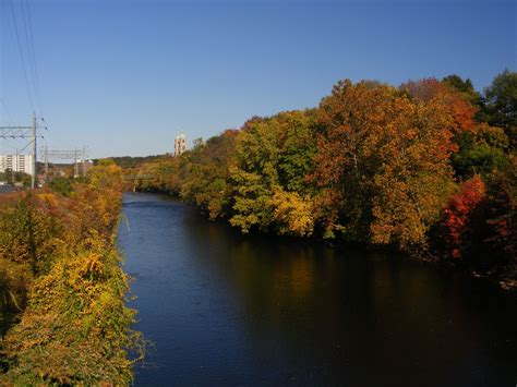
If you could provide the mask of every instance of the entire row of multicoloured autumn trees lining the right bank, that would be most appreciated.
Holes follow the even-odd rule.
[[[484,94],[470,80],[338,82],[318,107],[250,119],[136,183],[211,219],[366,243],[517,279],[517,74]],[[135,171],[133,171],[134,173]]]

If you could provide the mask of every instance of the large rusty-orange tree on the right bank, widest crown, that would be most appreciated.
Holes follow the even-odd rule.
[[[425,243],[452,185],[448,108],[441,94],[411,98],[371,82],[334,86],[318,109],[313,174],[327,235],[401,249]]]

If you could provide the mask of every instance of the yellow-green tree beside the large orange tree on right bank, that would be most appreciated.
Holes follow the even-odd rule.
[[[237,165],[230,169],[235,186],[231,225],[243,232],[274,228],[279,233],[312,233],[312,198],[305,177],[315,154],[313,121],[312,111],[290,111],[244,125],[237,140]],[[296,214],[302,214],[303,221],[298,222]]]

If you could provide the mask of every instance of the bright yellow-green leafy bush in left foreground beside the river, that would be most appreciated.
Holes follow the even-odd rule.
[[[135,312],[124,306],[128,278],[119,263],[116,249],[95,238],[79,252],[63,251],[35,281],[21,323],[5,337],[2,382],[130,384],[125,349],[141,337],[129,329]]]

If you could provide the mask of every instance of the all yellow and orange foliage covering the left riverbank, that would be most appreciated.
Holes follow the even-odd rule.
[[[69,197],[38,191],[3,203],[2,384],[131,383],[128,350],[141,338],[115,244],[121,184],[121,169],[104,162],[67,184]]]

